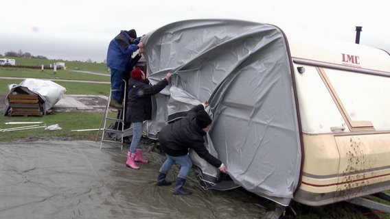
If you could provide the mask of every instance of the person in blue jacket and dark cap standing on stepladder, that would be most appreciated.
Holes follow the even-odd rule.
[[[124,73],[133,69],[137,62],[134,62],[132,55],[139,50],[143,52],[144,43],[137,38],[135,29],[129,31],[121,30],[120,33],[111,40],[108,45],[106,65],[111,69],[111,101],[110,106],[122,109],[124,85]],[[140,55],[135,57],[139,60]],[[132,66],[130,66],[130,65]]]

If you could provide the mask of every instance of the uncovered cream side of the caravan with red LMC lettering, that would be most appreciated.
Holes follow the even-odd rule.
[[[390,56],[319,45],[310,44],[319,55],[291,46],[304,151],[294,199],[317,206],[390,190]]]

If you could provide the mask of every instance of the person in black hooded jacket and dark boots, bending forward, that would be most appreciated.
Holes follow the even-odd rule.
[[[165,181],[168,170],[175,162],[181,165],[176,178],[174,194],[188,195],[183,189],[185,179],[192,168],[192,160],[188,155],[189,149],[193,149],[199,157],[205,159],[209,164],[219,168],[221,172],[227,172],[227,168],[222,162],[211,155],[205,147],[205,135],[211,127],[211,118],[205,112],[207,101],[193,107],[187,116],[174,123],[163,127],[159,133],[159,142],[167,159],[159,170],[156,185],[170,185],[172,182]]]

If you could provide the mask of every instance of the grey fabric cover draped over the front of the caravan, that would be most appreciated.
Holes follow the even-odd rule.
[[[299,183],[301,142],[287,39],[278,27],[234,20],[165,25],[142,41],[151,83],[172,73],[154,96],[148,135],[208,101],[207,148],[227,165],[231,188],[288,205]],[[162,122],[163,121],[163,122]],[[190,153],[200,184],[218,188],[219,171]],[[218,182],[219,181],[219,182]]]

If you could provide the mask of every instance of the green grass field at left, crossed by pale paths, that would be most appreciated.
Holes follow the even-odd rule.
[[[54,63],[54,60],[36,60],[16,58],[16,64],[25,66],[35,66]],[[106,72],[105,64],[94,64],[84,62],[65,62],[69,66],[67,70],[58,70],[56,74],[52,70],[40,70],[31,68],[10,68],[0,67],[0,77],[12,77],[18,79],[0,80],[0,94],[8,94],[8,85],[19,84],[25,78],[50,79],[67,89],[65,94],[88,94],[108,96],[110,92],[110,74]],[[77,70],[75,70],[77,68]],[[71,70],[73,69],[73,70]],[[91,73],[100,73],[101,75],[82,73],[78,70]],[[57,81],[72,80],[72,81]],[[87,83],[83,81],[95,81]],[[21,127],[22,125],[5,125],[8,122],[42,122],[44,125],[58,124],[62,129],[56,131],[45,131],[44,128],[26,129],[21,131],[7,131],[0,133],[0,141],[8,142],[21,140],[23,138],[47,138],[47,137],[66,137],[74,140],[95,140],[97,131],[72,131],[77,129],[96,129],[100,127],[102,121],[101,112],[54,112],[45,116],[0,116],[0,129],[9,129],[12,127]],[[25,126],[25,125],[23,125]]]

